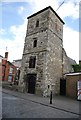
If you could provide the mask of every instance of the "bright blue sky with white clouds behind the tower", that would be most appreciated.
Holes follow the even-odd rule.
[[[80,0],[0,0],[0,55],[9,52],[8,60],[22,58],[27,17],[51,6],[65,22],[63,47],[77,63],[79,56],[79,2]],[[64,4],[61,5],[61,3]],[[58,7],[60,8],[58,9]]]

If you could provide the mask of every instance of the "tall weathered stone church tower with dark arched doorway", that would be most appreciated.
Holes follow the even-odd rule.
[[[60,92],[63,20],[49,6],[28,17],[19,86],[28,93]]]

